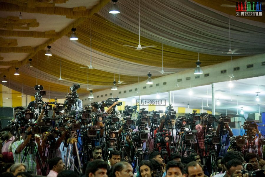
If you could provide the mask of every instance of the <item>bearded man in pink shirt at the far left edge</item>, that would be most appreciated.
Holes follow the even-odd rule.
[[[6,163],[14,162],[12,143],[15,141],[16,137],[13,135],[10,127],[5,127],[1,130],[0,153],[3,155],[3,159]],[[4,145],[2,146],[3,142]]]

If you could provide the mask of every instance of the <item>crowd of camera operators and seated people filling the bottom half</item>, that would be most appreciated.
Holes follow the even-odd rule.
[[[113,114],[116,104],[118,104],[117,101],[108,106],[104,113]],[[34,120],[35,122],[27,123],[24,127],[19,127],[16,133],[14,133],[14,127],[12,128],[12,126],[1,129],[1,177],[32,177],[35,175],[48,177],[246,177],[251,176],[251,174],[264,176],[264,171],[262,170],[265,169],[265,161],[263,160],[263,146],[261,143],[263,137],[257,127],[248,130],[251,131],[251,133],[248,132],[248,135],[253,136],[253,142],[249,142],[249,144],[241,147],[241,152],[239,152],[238,149],[231,148],[233,132],[229,124],[223,123],[223,118],[220,118],[216,126],[211,125],[210,127],[208,124],[210,116],[207,113],[201,113],[199,116],[200,123],[195,126],[196,139],[194,140],[194,145],[196,147],[194,146],[191,152],[189,150],[180,152],[176,147],[177,145],[185,145],[181,141],[184,138],[181,135],[183,132],[188,132],[190,127],[183,127],[183,129],[176,127],[176,122],[179,122],[178,119],[185,120],[183,116],[179,116],[175,120],[171,119],[170,124],[172,124],[172,127],[170,126],[169,130],[165,130],[165,122],[167,120],[166,117],[161,117],[160,124],[156,127],[153,138],[156,138],[156,133],[163,133],[165,131],[167,131],[166,135],[172,135],[175,144],[172,142],[164,143],[167,146],[166,155],[162,153],[159,146],[161,142],[156,142],[156,145],[154,145],[156,140],[150,138],[150,129],[152,128],[150,126],[152,124],[150,119],[141,124],[144,127],[140,127],[140,125],[127,126],[129,129],[127,132],[124,130],[125,127],[122,126],[116,132],[119,136],[117,140],[120,140],[123,136],[126,137],[124,144],[122,146],[110,146],[106,150],[102,146],[104,143],[102,141],[111,140],[111,138],[105,138],[107,136],[105,132],[106,122],[94,121],[94,124],[98,125],[99,139],[105,139],[93,139],[93,142],[90,142],[88,145],[87,142],[83,141],[83,135],[79,129],[69,131],[69,127],[73,124],[72,122],[65,122],[63,124],[64,130],[60,131],[51,129],[54,127],[56,119],[50,125],[42,124],[42,126],[36,126],[39,122],[44,122],[45,116],[43,114],[45,106],[44,104],[42,111],[40,111],[38,117]],[[78,106],[78,104],[76,107],[77,109],[82,109],[82,106]],[[90,108],[92,110],[91,117],[93,117],[94,113],[100,112],[99,104],[96,102],[92,103]],[[23,107],[14,108],[15,115],[23,110]],[[56,106],[54,106],[54,112],[55,110]],[[66,114],[64,112],[57,112],[58,115],[54,115],[54,112],[52,117]],[[121,124],[126,124],[120,114],[117,117]],[[21,120],[12,120],[11,124],[12,122],[18,124],[19,121]],[[132,138],[132,132],[139,132],[142,129],[150,130],[148,133],[150,141],[140,141]],[[37,132],[34,133],[34,131]],[[207,131],[211,131],[211,133]],[[58,132],[60,135],[55,136]],[[220,137],[220,143],[211,145],[212,149],[210,150],[206,148],[208,143],[206,143],[206,137],[208,134]],[[137,153],[132,153],[132,151],[135,151],[135,148],[139,150],[139,146],[133,145],[136,143],[135,141],[143,143],[140,146],[144,152],[143,159],[137,159],[138,156],[135,155]],[[170,148],[172,145],[175,145],[173,150],[172,147]],[[86,149],[88,151],[91,150],[91,154],[86,152],[89,156],[88,158],[82,156],[84,147],[88,147]],[[252,172],[249,174],[246,170],[256,171],[256,173]]]

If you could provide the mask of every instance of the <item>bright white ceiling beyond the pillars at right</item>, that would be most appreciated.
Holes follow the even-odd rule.
[[[215,83],[215,100],[219,99],[220,105],[216,105],[216,112],[236,114],[237,109],[245,113],[258,113],[259,105],[256,101],[259,83],[260,112],[265,112],[265,76],[240,79],[232,81],[233,87],[228,86],[229,82]],[[189,89],[171,91],[171,103],[173,106],[188,107],[193,109],[212,110],[212,88],[211,85],[193,87],[192,95],[189,95]],[[208,95],[207,95],[208,89]],[[141,99],[157,99],[157,94],[143,95]],[[159,99],[167,99],[168,92],[159,93]],[[131,101],[132,97],[121,99],[122,101]],[[208,100],[208,106],[206,106]],[[238,100],[238,106],[237,106]],[[167,102],[168,104],[168,102]]]

